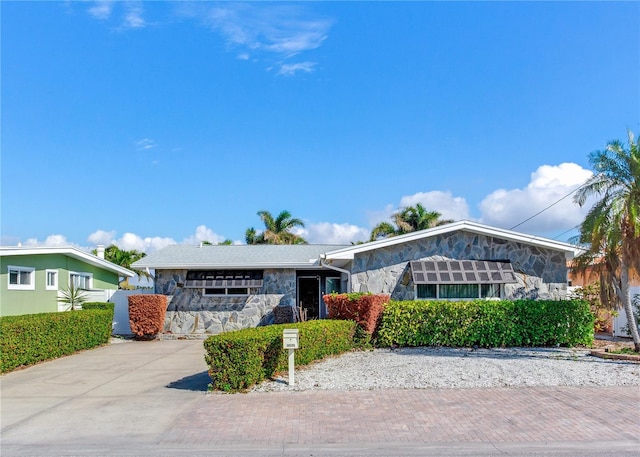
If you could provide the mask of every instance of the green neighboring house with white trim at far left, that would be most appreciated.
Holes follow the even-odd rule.
[[[65,311],[59,292],[70,284],[89,301],[107,301],[120,277],[135,274],[98,255],[67,247],[0,247],[0,316]],[[68,308],[68,305],[66,305]]]

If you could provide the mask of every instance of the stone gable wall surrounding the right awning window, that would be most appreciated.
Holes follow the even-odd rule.
[[[563,252],[463,231],[356,254],[352,290],[413,300],[409,261],[437,259],[510,260],[518,282],[505,285],[505,299],[560,299],[567,293]]]

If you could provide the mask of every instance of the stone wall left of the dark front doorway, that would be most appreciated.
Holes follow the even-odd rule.
[[[263,285],[249,295],[205,297],[202,289],[182,287],[187,270],[156,270],[155,292],[169,296],[166,333],[218,334],[273,323],[273,308],[294,306],[296,272],[264,270]]]

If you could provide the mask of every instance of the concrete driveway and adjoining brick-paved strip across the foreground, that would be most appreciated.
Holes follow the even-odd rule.
[[[207,394],[202,341],[112,344],[0,378],[1,453],[640,455],[638,387]]]

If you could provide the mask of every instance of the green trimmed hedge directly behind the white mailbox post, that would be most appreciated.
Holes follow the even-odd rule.
[[[314,320],[297,324],[270,325],[222,333],[204,342],[205,360],[211,377],[210,389],[246,390],[288,368],[288,351],[282,347],[282,330],[297,328],[300,348],[296,366],[308,365],[328,355],[354,348],[356,323]]]

